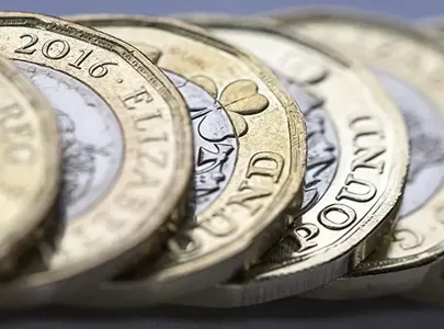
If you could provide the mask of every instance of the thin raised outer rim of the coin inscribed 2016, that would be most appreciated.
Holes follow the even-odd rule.
[[[189,117],[186,104],[179,91],[160,71],[160,69],[149,61],[138,49],[116,37],[50,15],[25,12],[0,12],[0,20],[1,19],[23,20],[24,23],[18,26],[30,27],[31,25],[33,29],[35,29],[35,26],[39,26],[41,29],[49,26],[52,29],[45,31],[73,38],[78,38],[75,33],[81,32],[84,35],[94,36],[98,39],[104,39],[112,43],[117,48],[124,49],[126,53],[130,54],[132,57],[138,61],[138,64],[141,64],[147,69],[149,77],[155,78],[163,91],[168,91],[168,98],[164,95],[161,95],[161,98],[169,105],[169,111],[171,113],[171,125],[174,127],[175,135],[180,136],[174,138],[175,143],[173,145],[175,147],[174,151],[178,152],[178,159],[181,159],[180,163],[174,163],[174,168],[171,171],[171,177],[168,178],[170,181],[169,185],[171,186],[171,189],[166,189],[164,191],[164,194],[168,194],[168,197],[162,198],[162,204],[158,205],[157,207],[152,207],[152,215],[149,218],[149,229],[140,229],[138,230],[137,235],[128,237],[128,239],[130,238],[130,241],[118,248],[118,250],[117,248],[112,248],[111,251],[102,252],[100,256],[93,258],[93,260],[83,259],[81,261],[83,264],[81,269],[79,269],[80,262],[76,262],[75,265],[64,265],[60,269],[32,273],[9,283],[4,288],[30,288],[31,286],[38,287],[41,285],[55,283],[67,279],[70,279],[75,284],[75,282],[77,282],[75,280],[77,276],[82,276],[82,279],[88,277],[89,280],[93,279],[94,281],[101,280],[104,279],[105,275],[111,275],[117,271],[118,269],[116,269],[116,264],[118,268],[123,268],[125,264],[133,262],[135,258],[147,256],[146,249],[149,249],[151,252],[152,250],[159,251],[157,248],[158,245],[160,245],[161,240],[167,238],[166,235],[170,236],[172,232],[170,229],[171,224],[175,223],[171,223],[171,219],[184,220],[186,218],[185,214],[178,216],[177,212],[178,209],[183,211],[184,198],[189,197],[187,192],[192,186],[191,173],[194,170],[191,120]],[[13,29],[15,25],[11,24],[5,26]],[[82,39],[84,41],[84,37]],[[122,58],[119,53],[113,52],[113,49],[106,49],[100,45],[95,46],[117,54],[117,56]],[[137,71],[136,69],[134,70]],[[139,72],[139,75],[145,81],[147,81],[147,83],[149,83],[147,73]],[[157,90],[159,90],[159,88],[157,88]],[[147,243],[153,248],[147,248]],[[101,273],[99,274],[99,272]]]

